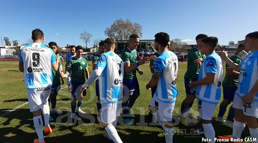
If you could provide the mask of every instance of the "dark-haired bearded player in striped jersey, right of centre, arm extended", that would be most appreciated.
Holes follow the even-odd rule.
[[[168,42],[167,33],[160,32],[155,35],[155,48],[158,47],[158,53],[161,54],[154,62],[154,72],[146,88],[150,90],[157,85],[148,109],[165,130],[166,142],[172,143],[174,134],[172,113],[178,95],[176,88],[178,59],[173,52],[168,50]]]

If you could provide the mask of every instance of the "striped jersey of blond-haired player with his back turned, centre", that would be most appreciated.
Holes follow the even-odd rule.
[[[101,102],[122,101],[124,62],[114,52],[101,54],[96,67],[103,68],[98,78]]]

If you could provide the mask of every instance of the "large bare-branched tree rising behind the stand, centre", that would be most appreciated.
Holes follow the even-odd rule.
[[[138,23],[132,23],[131,20],[117,19],[110,27],[107,27],[104,34],[116,40],[129,40],[131,34],[137,34],[142,37],[142,26]]]

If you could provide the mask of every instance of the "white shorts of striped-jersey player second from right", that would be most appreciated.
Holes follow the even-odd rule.
[[[212,120],[217,104],[197,100],[199,117],[203,120]]]

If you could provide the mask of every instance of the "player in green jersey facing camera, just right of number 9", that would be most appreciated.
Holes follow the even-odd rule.
[[[69,59],[67,64],[67,71],[64,77],[67,78],[67,76],[69,76],[69,74],[72,73],[71,74],[71,79],[72,79],[71,118],[76,120],[81,120],[80,117],[75,115],[76,101],[78,101],[77,113],[85,114],[85,112],[81,110],[83,97],[80,96],[80,89],[83,83],[85,83],[85,75],[87,79],[90,75],[88,71],[89,66],[88,66],[87,60],[82,57],[83,47],[79,45],[75,48],[75,51],[76,51],[76,56]],[[86,90],[83,92],[83,96],[85,95],[86,95]]]

